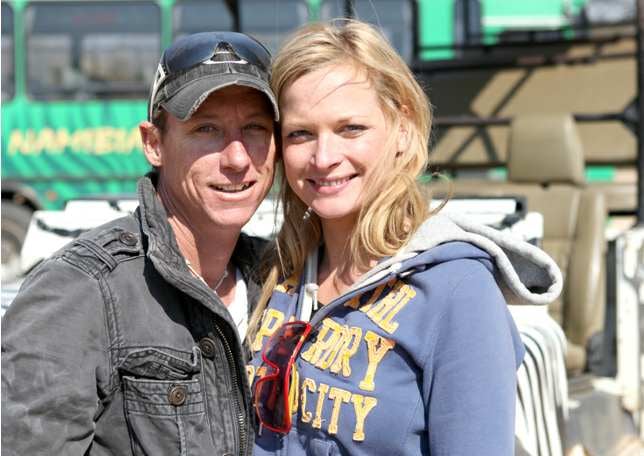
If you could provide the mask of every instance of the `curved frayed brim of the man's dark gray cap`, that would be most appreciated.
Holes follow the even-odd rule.
[[[224,87],[241,85],[259,90],[268,97],[275,113],[275,121],[279,121],[279,110],[273,92],[266,82],[248,74],[212,74],[189,82],[177,91],[170,99],[160,103],[163,108],[177,119],[188,120],[201,106],[208,96]]]

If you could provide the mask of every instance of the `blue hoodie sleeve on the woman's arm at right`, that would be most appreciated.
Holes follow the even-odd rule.
[[[424,367],[430,453],[514,454],[524,348],[490,270],[463,260]]]

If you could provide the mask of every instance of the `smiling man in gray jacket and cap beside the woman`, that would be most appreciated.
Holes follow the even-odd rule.
[[[227,307],[243,331],[260,243],[240,230],[275,160],[269,64],[238,33],[190,35],[164,52],[140,125],[155,171],[136,213],[43,262],[4,316],[4,454],[252,452]]]

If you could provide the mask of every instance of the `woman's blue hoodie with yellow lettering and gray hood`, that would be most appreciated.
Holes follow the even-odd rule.
[[[254,340],[307,319],[317,255],[279,284]],[[506,303],[545,304],[561,274],[541,250],[453,216],[321,307],[291,382],[292,428],[261,429],[255,454],[511,455],[524,348]]]

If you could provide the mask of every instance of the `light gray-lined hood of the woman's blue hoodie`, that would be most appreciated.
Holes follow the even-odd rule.
[[[351,290],[391,272],[404,275],[405,270],[416,263],[410,261],[412,258],[441,244],[458,241],[468,242],[492,257],[496,265],[496,282],[508,304],[548,304],[561,293],[561,271],[547,253],[513,235],[457,214],[437,214],[428,218],[400,252],[378,263]],[[454,260],[458,255],[457,251],[442,249],[438,257],[432,256],[432,262]]]

